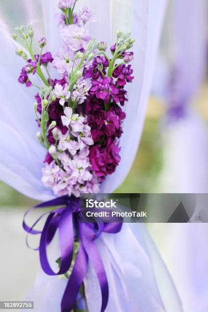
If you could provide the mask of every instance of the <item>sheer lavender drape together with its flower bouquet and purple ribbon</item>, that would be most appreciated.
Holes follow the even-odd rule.
[[[138,92],[134,96],[132,92],[128,103],[127,89],[134,78],[129,63],[134,58],[135,40],[129,33],[118,31],[114,44],[108,42],[108,48],[105,42],[96,41],[102,35],[110,41],[107,28],[115,26],[107,21],[109,1],[90,0],[99,15],[97,24],[87,7],[76,10],[80,1],[41,3],[47,42],[42,37],[36,49],[31,26],[20,26],[13,34],[20,56],[16,63],[25,61],[18,81],[28,89],[20,88],[13,77],[14,66],[7,64],[1,64],[5,79],[0,86],[2,100],[7,103],[0,116],[1,178],[23,194],[45,201],[30,209],[25,217],[32,210],[46,208],[32,226],[23,221],[28,235],[41,236],[37,249],[44,271],[28,299],[35,302],[38,312],[181,311],[174,285],[142,224],[94,225],[80,221],[81,194],[103,190],[110,193],[131,167],[141,134],[143,103],[148,97],[165,1],[157,6],[150,0],[129,4],[119,0],[120,6],[112,3],[120,13],[123,10],[126,32],[129,11],[134,8],[135,12],[132,30],[139,38],[135,42],[136,45],[139,41],[134,67]],[[57,12],[57,4],[60,9],[57,22],[61,45],[55,35],[57,22],[50,20],[51,15],[54,18],[55,4]],[[35,7],[35,2],[30,5]],[[104,25],[106,29],[102,29]],[[11,45],[4,27],[0,32],[6,59],[11,55]],[[91,33],[98,36],[93,38]],[[50,53],[47,43],[56,46],[57,51]],[[8,92],[11,85],[17,90],[19,106]],[[28,96],[32,87],[37,88],[33,93],[34,114]],[[42,230],[37,229],[44,217]],[[59,246],[54,251],[53,243],[57,241]],[[167,292],[163,291],[164,279]],[[167,298],[171,298],[171,307],[167,307]]]

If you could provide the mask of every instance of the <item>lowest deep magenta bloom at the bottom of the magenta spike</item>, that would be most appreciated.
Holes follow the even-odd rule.
[[[120,162],[120,147],[118,143],[109,139],[107,146],[93,145],[90,147],[90,161],[92,168],[102,180],[112,174]]]

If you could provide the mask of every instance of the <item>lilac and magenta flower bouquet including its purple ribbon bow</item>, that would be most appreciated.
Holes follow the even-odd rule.
[[[104,311],[109,296],[108,280],[94,240],[102,231],[120,231],[121,224],[98,223],[95,234],[95,225],[80,221],[79,197],[82,193],[98,193],[102,181],[116,170],[120,161],[119,138],[125,118],[122,107],[127,101],[125,85],[134,79],[133,69],[128,65],[134,53],[129,49],[135,40],[130,33],[118,31],[108,56],[107,44],[97,42],[86,28],[87,22],[96,21],[93,12],[87,7],[75,12],[75,5],[75,0],[58,3],[63,45],[55,55],[44,51],[45,37],[38,42],[39,53],[34,53],[31,25],[16,27],[13,34],[13,39],[21,44],[16,54],[26,62],[18,81],[38,89],[34,103],[39,127],[37,140],[46,153],[42,183],[57,196],[35,208],[64,205],[49,213],[41,232],[34,229],[39,220],[32,227],[24,221],[23,227],[29,234],[41,233],[38,249],[43,271],[68,279],[62,311],[77,311],[83,300],[86,302],[83,280],[89,260],[97,273]],[[58,77],[51,76],[49,65],[57,70]],[[34,75],[39,76],[41,85],[33,82]],[[61,257],[57,259],[59,271],[55,273],[49,265],[46,247],[58,228]]]

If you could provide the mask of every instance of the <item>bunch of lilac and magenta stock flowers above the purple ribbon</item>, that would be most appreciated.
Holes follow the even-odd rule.
[[[40,131],[37,139],[46,149],[42,182],[56,196],[97,193],[100,183],[115,171],[120,161],[122,106],[127,101],[125,85],[134,79],[129,62],[133,60],[134,39],[117,32],[106,54],[107,44],[96,42],[86,29],[96,17],[87,7],[74,12],[76,1],[60,1],[63,46],[57,54],[43,53],[46,38],[39,40],[40,52],[34,54],[32,27],[16,28],[22,48],[16,53],[27,64],[18,81],[39,89],[34,110]],[[18,40],[16,34],[13,35]],[[59,78],[51,78],[48,64]],[[44,87],[33,83],[39,75]],[[46,74],[46,75],[45,75]]]

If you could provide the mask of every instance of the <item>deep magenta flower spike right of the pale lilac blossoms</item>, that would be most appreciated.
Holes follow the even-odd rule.
[[[101,180],[113,173],[120,162],[118,138],[122,134],[121,124],[125,113],[119,105],[123,106],[127,101],[124,86],[134,79],[131,65],[118,66],[112,77],[107,75],[108,67],[107,58],[98,56],[90,68],[84,70],[84,77],[92,80],[85,102],[95,143],[90,147],[90,161]]]

